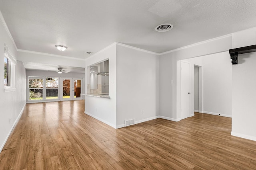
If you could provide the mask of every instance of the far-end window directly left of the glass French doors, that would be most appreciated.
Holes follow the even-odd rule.
[[[46,77],[46,99],[58,99],[58,77]]]

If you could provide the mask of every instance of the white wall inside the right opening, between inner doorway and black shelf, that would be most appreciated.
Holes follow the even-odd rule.
[[[232,116],[232,64],[229,52],[203,58],[203,113]]]

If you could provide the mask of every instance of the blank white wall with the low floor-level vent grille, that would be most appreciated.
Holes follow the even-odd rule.
[[[158,117],[159,55],[117,44],[116,80],[117,127]]]

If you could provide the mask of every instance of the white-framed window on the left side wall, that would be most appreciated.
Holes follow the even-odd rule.
[[[4,90],[15,90],[15,64],[16,59],[8,48],[4,47]]]

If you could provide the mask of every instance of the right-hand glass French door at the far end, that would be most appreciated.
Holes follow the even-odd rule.
[[[72,100],[82,100],[82,78],[72,78]]]

